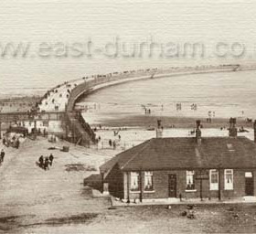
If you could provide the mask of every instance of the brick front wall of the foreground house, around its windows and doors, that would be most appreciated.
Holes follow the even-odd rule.
[[[233,197],[244,197],[245,196],[245,172],[250,170],[233,170],[233,190],[224,189],[224,170],[220,170],[220,187],[221,187],[221,198],[233,198]],[[252,171],[253,176],[256,176],[256,170]],[[167,198],[169,196],[168,191],[168,175],[176,175],[176,197],[183,198],[196,198],[200,197],[200,180],[195,180],[195,192],[186,191],[186,171],[154,171],[153,172],[153,183],[154,191],[146,192],[143,191],[143,199],[153,199],[153,198]],[[198,174],[198,172],[196,172]],[[206,175],[208,175],[208,170],[206,170]],[[128,177],[130,173],[124,173],[123,176],[123,197],[128,198],[129,183]],[[144,173],[142,173],[142,187],[144,188]],[[209,190],[209,180],[202,180],[202,196],[203,198],[219,197],[218,190]],[[256,179],[254,179],[254,196],[256,196]],[[129,198],[139,199],[140,191],[129,192]]]

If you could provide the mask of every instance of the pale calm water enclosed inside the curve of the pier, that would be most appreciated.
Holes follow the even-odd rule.
[[[176,110],[181,103],[181,110]],[[141,80],[99,90],[82,103],[90,122],[129,114],[208,117],[256,116],[256,71]],[[197,111],[191,105],[197,104]],[[163,106],[162,106],[163,105]]]

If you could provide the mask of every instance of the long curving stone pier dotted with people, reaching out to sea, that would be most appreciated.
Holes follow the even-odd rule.
[[[239,68],[255,69],[255,68]],[[95,133],[81,113],[74,110],[76,102],[91,92],[112,85],[135,81],[157,79],[187,74],[204,74],[213,72],[234,72],[238,65],[201,66],[171,69],[140,69],[113,72],[106,75],[94,75],[80,80],[72,80],[48,91],[38,106],[41,112],[66,112],[66,139],[75,144],[88,146],[95,143]]]

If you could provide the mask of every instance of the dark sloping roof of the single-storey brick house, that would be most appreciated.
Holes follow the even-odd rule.
[[[123,171],[256,168],[256,144],[246,137],[153,138],[101,165],[101,173],[118,164]]]

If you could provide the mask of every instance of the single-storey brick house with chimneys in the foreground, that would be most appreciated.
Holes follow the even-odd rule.
[[[101,165],[103,191],[128,202],[176,197],[221,199],[256,196],[256,144],[237,136],[154,138]],[[254,123],[254,131],[256,123]]]

